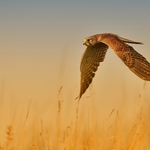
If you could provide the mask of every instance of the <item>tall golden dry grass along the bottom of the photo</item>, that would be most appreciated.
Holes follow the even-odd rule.
[[[1,131],[0,150],[150,149],[149,112],[144,112],[142,107],[138,108],[132,121],[125,122],[115,109],[101,120],[96,111],[84,112],[77,103],[74,115],[65,118],[69,110],[64,109],[65,101],[60,100],[59,94],[52,115],[46,116],[48,121],[32,117],[32,102],[26,113],[20,114],[21,119],[13,118],[14,121],[5,127],[4,134]]]

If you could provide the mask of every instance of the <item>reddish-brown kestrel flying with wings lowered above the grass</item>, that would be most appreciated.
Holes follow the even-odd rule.
[[[91,84],[100,62],[104,61],[108,47],[114,50],[135,75],[143,80],[150,81],[150,63],[127,43],[142,44],[111,33],[96,34],[84,39],[83,44],[87,48],[80,64],[81,87],[79,99]]]

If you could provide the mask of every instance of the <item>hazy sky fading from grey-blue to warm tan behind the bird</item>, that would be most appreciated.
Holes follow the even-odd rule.
[[[3,105],[48,109],[58,97],[74,104],[80,90],[80,60],[85,37],[114,33],[143,42],[132,45],[150,61],[149,0],[0,1],[0,91]],[[146,83],[109,49],[93,84],[82,98],[109,111],[150,99]],[[88,100],[87,100],[88,99]],[[125,102],[125,101],[126,102]],[[81,102],[81,103],[82,103]],[[140,102],[139,102],[140,103]],[[68,106],[68,105],[67,105]],[[67,107],[66,106],[66,107]]]

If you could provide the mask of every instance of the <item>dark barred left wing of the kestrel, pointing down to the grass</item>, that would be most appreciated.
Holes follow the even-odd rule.
[[[98,43],[86,48],[80,65],[81,87],[79,99],[91,84],[100,62],[104,61],[107,49],[108,46],[104,43]]]

